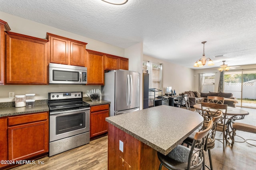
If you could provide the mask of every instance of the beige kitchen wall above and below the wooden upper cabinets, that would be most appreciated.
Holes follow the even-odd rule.
[[[4,12],[0,12],[0,19],[4,20],[10,26],[12,32],[30,35],[38,38],[46,38],[46,32],[53,33],[56,35],[61,35],[63,37],[68,37],[71,39],[76,39],[78,41],[88,43],[86,49],[91,49],[95,51],[100,51],[102,53],[108,53],[112,55],[117,55],[124,57],[124,49],[96,41],[87,37],[76,35],[61,29],[50,27],[42,23],[37,23],[34,21],[26,20],[24,18],[12,16]],[[68,23],[67,23],[68,24]],[[126,58],[129,58],[129,55],[126,55]],[[133,59],[132,59],[133,60]],[[129,62],[131,60],[129,59]],[[134,63],[136,64],[136,63]],[[139,65],[139,64],[138,64]],[[14,98],[8,98],[8,92],[14,92],[15,95],[18,94],[28,94],[35,93],[36,100],[48,99],[48,92],[74,92],[82,91],[84,96],[86,95],[87,90],[94,88],[101,88],[100,86],[91,86],[91,85],[3,85],[0,86],[0,102],[14,102]]]

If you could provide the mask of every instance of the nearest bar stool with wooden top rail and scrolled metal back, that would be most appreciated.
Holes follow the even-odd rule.
[[[172,170],[204,170],[204,148],[212,126],[213,122],[211,120],[206,129],[196,132],[190,149],[178,145],[167,155],[158,152],[159,170],[162,170],[163,165]]]

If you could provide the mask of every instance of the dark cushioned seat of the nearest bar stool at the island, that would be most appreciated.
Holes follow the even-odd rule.
[[[184,147],[183,145],[178,145],[167,155],[161,154],[158,152],[158,158],[162,164],[167,166],[169,169],[178,170],[178,169],[187,169],[188,167],[188,157],[190,149]],[[199,162],[198,155],[194,154],[194,162]],[[193,170],[201,170],[202,163],[198,164]]]

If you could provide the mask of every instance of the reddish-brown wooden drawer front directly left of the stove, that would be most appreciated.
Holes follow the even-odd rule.
[[[8,126],[18,125],[22,123],[30,123],[34,121],[47,120],[47,118],[48,118],[48,112],[8,117]]]

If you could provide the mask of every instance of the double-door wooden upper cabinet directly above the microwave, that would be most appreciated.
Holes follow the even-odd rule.
[[[50,41],[50,63],[68,64],[74,66],[86,65],[86,44],[52,33],[46,33]]]

